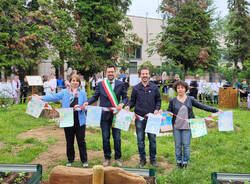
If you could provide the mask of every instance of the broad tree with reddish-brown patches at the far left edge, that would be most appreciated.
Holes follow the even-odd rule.
[[[40,11],[28,12],[21,0],[2,0],[0,3],[0,66],[21,77],[31,74],[48,57],[45,40],[48,26],[40,26],[45,16]]]

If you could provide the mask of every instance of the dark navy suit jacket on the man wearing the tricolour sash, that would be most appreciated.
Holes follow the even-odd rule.
[[[115,80],[114,92],[118,103],[126,105],[128,103],[127,90],[122,81]],[[99,82],[96,86],[95,94],[88,100],[89,105],[94,103],[100,97],[100,107],[113,107],[107,93],[104,90],[102,82]],[[122,101],[121,101],[122,98]],[[102,112],[102,120],[112,121],[113,112]]]

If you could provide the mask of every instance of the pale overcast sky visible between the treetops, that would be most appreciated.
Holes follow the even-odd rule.
[[[136,15],[152,18],[161,18],[161,16],[156,12],[161,0],[132,0],[132,5],[128,15]],[[220,13],[222,17],[227,15],[227,0],[214,0],[214,6],[217,8],[217,13]]]

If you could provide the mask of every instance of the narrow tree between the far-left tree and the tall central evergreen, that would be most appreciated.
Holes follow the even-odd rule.
[[[42,3],[45,10],[50,15],[48,25],[52,31],[52,36],[48,43],[51,44],[52,64],[58,74],[64,75],[65,62],[74,60],[73,49],[75,45],[76,20],[72,16],[74,12],[74,2],[71,0],[54,0],[51,3]]]

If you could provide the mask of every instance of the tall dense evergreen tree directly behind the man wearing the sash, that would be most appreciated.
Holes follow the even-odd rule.
[[[118,63],[124,51],[125,32],[132,28],[125,13],[131,1],[77,0],[75,60],[69,65],[85,78]]]

